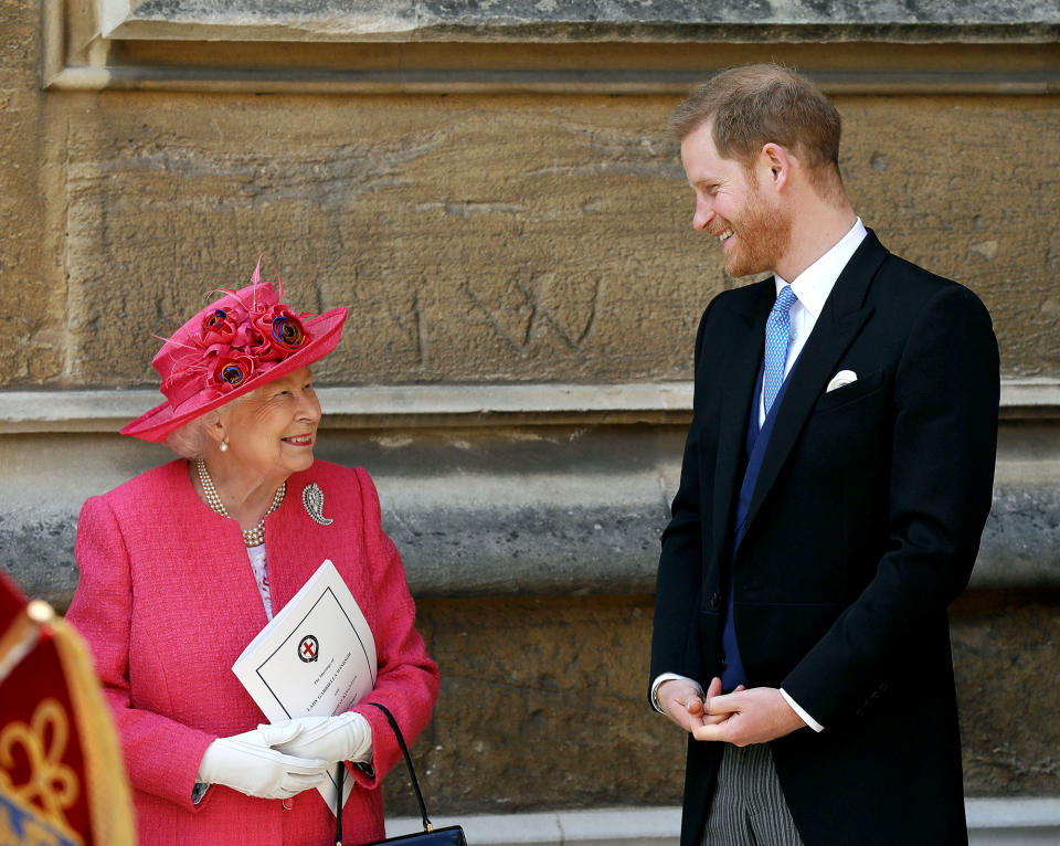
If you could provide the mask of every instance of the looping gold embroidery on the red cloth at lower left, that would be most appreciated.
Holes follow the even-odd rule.
[[[72,831],[65,808],[77,801],[81,783],[77,773],[63,763],[70,740],[70,721],[55,699],[42,699],[30,725],[10,722],[0,731],[0,791],[29,807],[40,807],[44,818],[63,831]],[[30,778],[14,784],[10,774],[15,750],[29,762]]]

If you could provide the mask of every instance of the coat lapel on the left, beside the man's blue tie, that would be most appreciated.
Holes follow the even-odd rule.
[[[729,352],[719,374],[721,419],[718,424],[718,455],[714,465],[713,560],[721,561],[724,543],[732,528],[735,495],[740,489],[741,456],[748,435],[755,378],[765,345],[765,321],[776,298],[776,284],[771,276],[749,286],[746,299],[736,307],[742,318],[733,321]]]

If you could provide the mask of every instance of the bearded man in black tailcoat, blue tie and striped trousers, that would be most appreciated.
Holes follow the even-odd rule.
[[[682,846],[966,844],[946,606],[990,507],[998,357],[967,288],[855,214],[839,115],[777,65],[676,112],[703,313],[651,700],[690,732]]]

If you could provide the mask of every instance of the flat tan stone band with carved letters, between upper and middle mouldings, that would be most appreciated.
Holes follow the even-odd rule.
[[[206,121],[197,97],[98,102],[71,116],[77,382],[149,384],[150,334],[263,248],[300,307],[351,306],[333,383],[688,377],[699,313],[731,284],[688,225],[669,101],[224,97]],[[1025,225],[1056,212],[1037,166],[1054,103],[839,105],[866,222],[984,297],[1006,372],[1060,372],[1060,234]]]

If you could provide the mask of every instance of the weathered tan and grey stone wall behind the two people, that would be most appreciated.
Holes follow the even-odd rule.
[[[0,565],[65,607],[80,503],[167,459],[114,434],[158,401],[129,391],[156,384],[151,335],[264,250],[298,306],[351,306],[318,368],[339,412],[320,454],[372,472],[405,553],[443,670],[416,744],[438,811],[678,802],[681,739],[644,696],[651,571],[696,324],[739,282],[689,226],[664,126],[709,70],[775,56],[834,97],[866,223],[994,315],[995,507],[952,613],[966,785],[1060,795],[1048,7],[876,20],[841,3],[826,25],[819,4],[559,20],[509,3],[529,18],[427,15],[415,38],[372,36],[386,43],[349,22],[283,40],[289,20],[211,40],[237,6],[102,23],[92,4],[0,0]],[[614,402],[554,401],[579,387]]]

